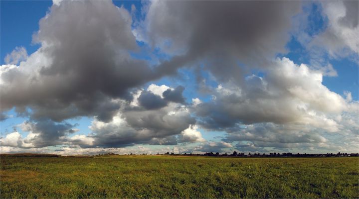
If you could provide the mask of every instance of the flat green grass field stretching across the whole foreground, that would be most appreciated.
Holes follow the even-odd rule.
[[[359,159],[1,157],[1,198],[359,198]]]

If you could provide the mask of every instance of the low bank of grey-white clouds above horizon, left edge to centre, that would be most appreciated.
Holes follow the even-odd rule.
[[[177,99],[177,97],[183,99],[182,95],[178,94],[183,91],[182,87],[173,89],[152,85],[149,87],[149,91],[142,91],[137,97],[138,99],[135,100],[141,101],[144,93],[145,95],[150,94],[156,99],[166,101],[164,106],[153,109],[143,106],[142,103],[132,105],[126,100],[119,100],[117,103],[121,108],[110,121],[94,118],[89,127],[92,131],[89,135],[71,136],[76,129],[75,126],[68,123],[57,124],[51,120],[26,121],[18,126],[22,131],[29,132],[26,138],[22,138],[15,131],[1,138],[1,145],[30,148],[68,144],[82,148],[114,148],[135,144],[176,145],[178,142],[205,141],[201,133],[196,130],[196,120],[190,115],[186,105],[167,100],[166,95],[163,97],[163,94],[160,96],[151,91],[154,90],[158,93],[158,89],[161,88],[166,89],[163,94],[168,94],[168,91],[171,91],[176,97],[173,99]]]

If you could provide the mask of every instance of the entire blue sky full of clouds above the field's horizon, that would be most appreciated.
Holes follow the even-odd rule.
[[[358,153],[359,1],[0,1],[0,152]]]

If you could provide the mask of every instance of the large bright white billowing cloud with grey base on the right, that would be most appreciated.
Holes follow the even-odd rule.
[[[219,85],[210,102],[195,106],[200,124],[223,129],[237,123],[301,123],[337,131],[337,123],[327,114],[349,111],[340,95],[322,84],[322,74],[287,58],[277,59],[264,77],[248,76],[240,87]]]

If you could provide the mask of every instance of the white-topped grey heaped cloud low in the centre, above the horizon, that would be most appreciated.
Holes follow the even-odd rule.
[[[177,92],[176,89],[164,85],[161,87],[165,92]],[[185,131],[196,122],[186,105],[166,100],[161,97],[162,95],[148,91],[161,87],[150,85],[147,91],[142,91],[138,99],[135,99],[139,101],[138,106],[122,101],[121,108],[110,121],[95,118],[90,126],[92,133],[88,136],[93,139],[93,144],[86,145],[79,141],[79,146],[86,148],[125,147],[134,144],[175,145],[178,139],[180,142],[201,141],[202,137],[195,129],[192,129],[193,132]],[[159,101],[164,103],[158,106]],[[182,132],[187,133],[185,138]],[[179,134],[181,138],[177,138]]]

